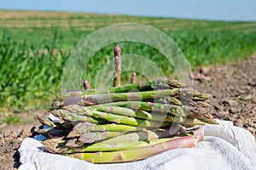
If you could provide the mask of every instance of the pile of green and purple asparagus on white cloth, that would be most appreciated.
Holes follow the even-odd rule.
[[[119,69],[116,69],[117,71]],[[118,75],[118,74],[117,74]],[[194,147],[202,125],[217,123],[210,94],[172,79],[130,83],[109,90],[61,94],[49,118],[38,120],[44,148],[94,163],[143,160],[165,150]]]

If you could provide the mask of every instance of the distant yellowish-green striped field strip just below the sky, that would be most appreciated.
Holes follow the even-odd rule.
[[[0,26],[6,28],[51,28],[94,31],[102,26],[120,23],[139,23],[154,26],[162,31],[222,31],[243,29],[256,30],[256,22],[224,22],[207,20],[183,20],[174,18],[135,17],[110,14],[79,14],[55,12],[0,11]]]

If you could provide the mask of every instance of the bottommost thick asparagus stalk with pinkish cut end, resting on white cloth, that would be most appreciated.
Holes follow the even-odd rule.
[[[109,152],[74,153],[68,156],[79,158],[84,161],[90,161],[92,163],[137,161],[148,158],[150,156],[155,156],[166,150],[195,147],[197,141],[198,139],[196,139],[195,136],[184,136],[178,139],[170,139],[166,142],[135,149]]]

